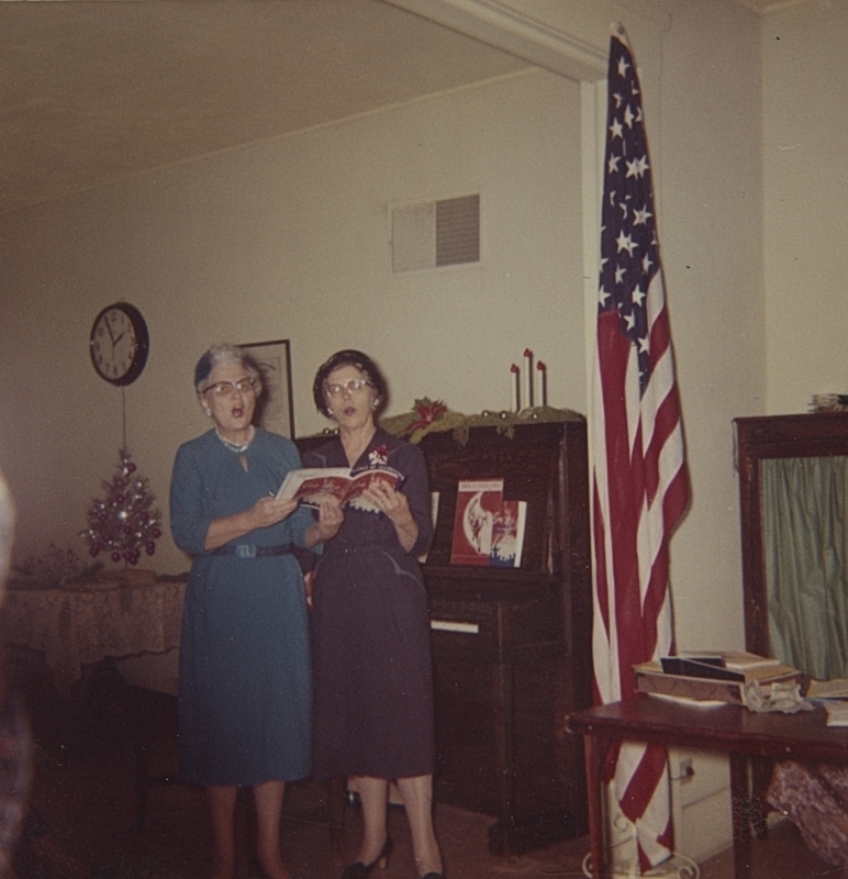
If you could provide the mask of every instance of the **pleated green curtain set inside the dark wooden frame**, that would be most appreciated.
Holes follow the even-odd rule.
[[[848,457],[762,461],[772,655],[818,680],[848,677]]]

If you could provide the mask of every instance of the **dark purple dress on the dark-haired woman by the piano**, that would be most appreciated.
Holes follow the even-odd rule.
[[[312,612],[313,754],[319,778],[428,775],[435,765],[429,616],[416,561],[432,534],[424,455],[379,431],[357,461],[376,457],[403,474],[419,537],[406,553],[383,513],[345,508],[315,566]],[[304,467],[346,467],[342,442]]]

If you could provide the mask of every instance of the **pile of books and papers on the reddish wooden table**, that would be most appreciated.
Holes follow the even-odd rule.
[[[634,670],[638,692],[736,704],[744,703],[743,691],[751,680],[768,687],[803,679],[796,668],[746,650],[665,656]]]

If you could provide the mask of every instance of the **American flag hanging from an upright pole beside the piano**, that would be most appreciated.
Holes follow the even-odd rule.
[[[593,659],[596,701],[635,696],[633,666],[671,653],[669,538],[688,500],[680,404],[636,68],[610,43],[593,376]],[[643,871],[671,854],[665,748],[625,743],[609,780]]]

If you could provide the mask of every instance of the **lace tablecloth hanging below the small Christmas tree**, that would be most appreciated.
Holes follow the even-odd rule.
[[[10,589],[0,634],[7,644],[44,653],[56,687],[68,692],[88,663],[178,647],[185,592],[185,582]]]

